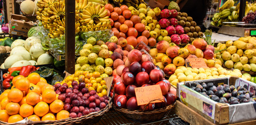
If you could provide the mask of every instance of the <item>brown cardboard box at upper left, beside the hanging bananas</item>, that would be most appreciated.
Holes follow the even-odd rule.
[[[9,34],[27,37],[28,30],[35,24],[22,15],[10,14]]]

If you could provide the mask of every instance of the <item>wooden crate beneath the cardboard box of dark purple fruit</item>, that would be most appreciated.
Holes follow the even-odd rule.
[[[204,116],[200,115],[197,113],[197,111],[189,108],[185,104],[183,104],[180,101],[176,102],[175,106],[175,113],[182,118],[183,120],[189,122],[190,124],[197,124],[197,125],[215,125],[219,123],[214,123],[210,121],[209,119],[205,118]],[[224,114],[222,114],[224,115]],[[222,117],[222,116],[221,116]],[[244,121],[244,122],[239,122],[239,123],[233,123],[231,125],[253,125],[256,124],[256,120],[251,120],[251,121]]]

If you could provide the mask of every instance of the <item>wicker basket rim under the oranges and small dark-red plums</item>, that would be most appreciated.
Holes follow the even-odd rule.
[[[56,121],[37,121],[37,122],[32,122],[32,123],[26,123],[27,124],[95,124],[100,121],[102,115],[104,115],[109,109],[112,107],[112,99],[110,98],[109,104],[104,108],[101,109],[100,111],[88,114],[86,116],[82,116],[79,118],[67,118],[67,119],[62,119],[62,120],[56,120]],[[18,124],[18,123],[6,123],[3,121],[0,121],[0,124],[11,124],[11,125],[23,125],[23,124]],[[24,124],[25,125],[25,124]]]

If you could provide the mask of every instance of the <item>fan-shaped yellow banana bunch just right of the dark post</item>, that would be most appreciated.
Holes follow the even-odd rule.
[[[85,32],[111,29],[111,21],[109,16],[106,16],[107,14],[108,11],[105,10],[105,7],[92,3],[80,13],[79,20],[76,22],[76,29]]]

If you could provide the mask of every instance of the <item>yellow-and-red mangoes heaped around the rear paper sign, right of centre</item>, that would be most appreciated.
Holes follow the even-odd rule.
[[[220,60],[214,60],[214,46],[207,45],[204,39],[196,39],[192,45],[187,44],[184,48],[172,45],[167,41],[160,41],[156,48],[150,50],[154,64],[168,76],[175,72],[176,67],[184,66],[187,58],[204,58],[208,67],[214,67],[216,63],[221,65]]]

